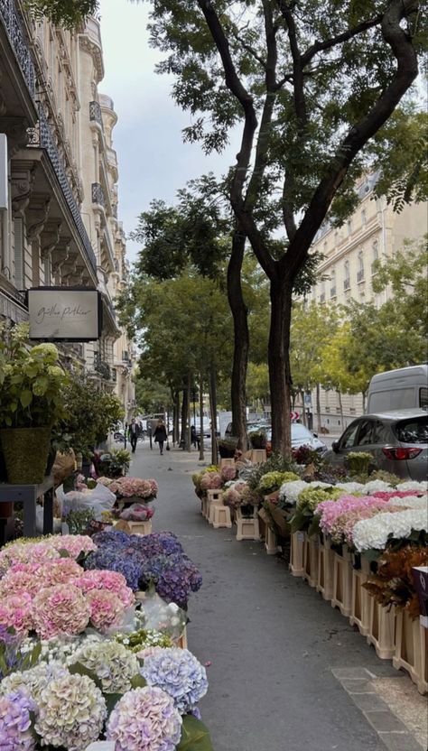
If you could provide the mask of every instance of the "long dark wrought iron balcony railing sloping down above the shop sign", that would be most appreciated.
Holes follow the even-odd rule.
[[[53,171],[57,176],[58,182],[60,183],[60,189],[62,190],[64,198],[67,201],[71,215],[74,219],[74,223],[79,232],[80,239],[86,250],[89,264],[92,266],[94,271],[97,271],[97,257],[94,253],[93,247],[90,244],[88,233],[85,229],[85,225],[83,224],[82,218],[80,216],[79,207],[70,188],[70,183],[68,181],[57,144],[55,144],[55,140],[51,133],[51,125],[49,125],[48,121],[46,120],[42,105],[39,106],[39,127],[30,129],[28,133],[30,138],[28,144],[29,147],[45,149],[46,153],[48,154],[51,165],[53,167]]]

